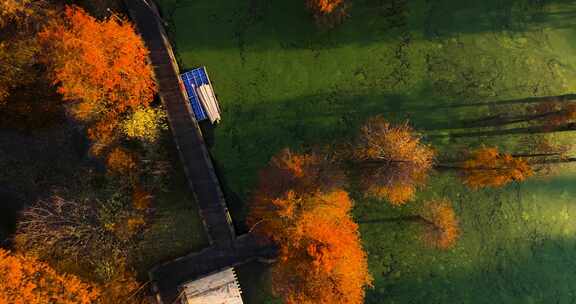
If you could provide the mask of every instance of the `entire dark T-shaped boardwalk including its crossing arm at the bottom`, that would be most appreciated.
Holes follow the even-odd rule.
[[[180,72],[158,10],[150,0],[124,3],[150,51],[160,99],[210,241],[210,247],[200,252],[150,270],[158,303],[175,303],[181,284],[250,261],[271,260],[276,248],[251,234],[236,237],[202,132],[180,87]]]

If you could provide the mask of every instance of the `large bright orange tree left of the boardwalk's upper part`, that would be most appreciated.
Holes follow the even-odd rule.
[[[118,16],[98,21],[68,6],[39,34],[58,91],[74,101],[72,113],[90,122],[89,137],[99,154],[117,134],[120,121],[147,107],[156,87],[148,50],[134,27]]]

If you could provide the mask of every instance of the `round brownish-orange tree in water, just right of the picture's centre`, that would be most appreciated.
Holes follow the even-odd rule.
[[[393,205],[414,198],[427,180],[434,154],[407,123],[393,126],[381,116],[368,119],[353,147],[367,195],[385,198]]]

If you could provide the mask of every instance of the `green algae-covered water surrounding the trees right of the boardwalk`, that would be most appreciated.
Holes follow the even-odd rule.
[[[546,0],[357,0],[319,31],[303,1],[163,0],[183,68],[207,67],[223,110],[212,153],[236,222],[260,168],[283,147],[345,141],[367,117],[408,119],[442,155],[517,137],[450,138],[504,102],[576,91],[576,4]],[[552,141],[570,143],[571,134]],[[415,227],[361,224],[366,303],[572,303],[576,175],[569,167],[471,192],[435,174],[403,208],[356,200],[359,221],[449,198],[462,237],[427,249]],[[265,269],[241,267],[248,303],[274,303]]]

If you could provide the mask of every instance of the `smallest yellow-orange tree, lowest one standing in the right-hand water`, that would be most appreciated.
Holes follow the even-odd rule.
[[[448,249],[460,236],[458,219],[448,200],[427,202],[420,215],[427,223],[424,240],[440,249]]]

